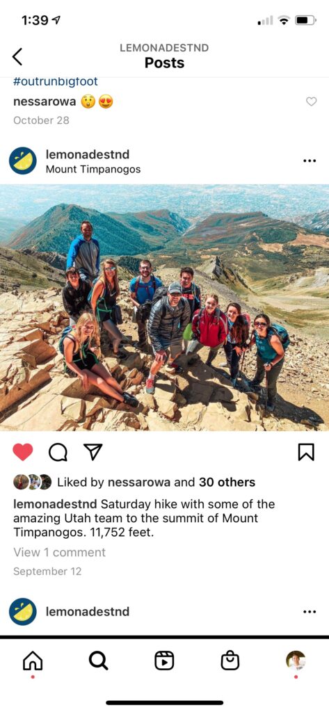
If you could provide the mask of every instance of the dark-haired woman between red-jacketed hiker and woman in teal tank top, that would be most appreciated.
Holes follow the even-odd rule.
[[[229,323],[229,333],[227,335],[224,351],[226,362],[221,363],[223,367],[229,367],[229,378],[231,386],[236,387],[236,378],[239,372],[239,360],[246,351],[247,340],[249,339],[250,318],[248,314],[241,314],[241,306],[236,302],[230,302],[226,308],[226,316]]]

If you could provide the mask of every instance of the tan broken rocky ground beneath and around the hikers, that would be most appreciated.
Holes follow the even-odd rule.
[[[165,283],[177,278],[164,270]],[[205,294],[214,283],[199,278]],[[163,369],[155,394],[145,394],[145,380],[152,356],[134,346],[137,338],[131,322],[132,308],[128,283],[121,283],[120,305],[124,323],[124,348],[128,356],[117,360],[102,337],[103,362],[123,389],[135,394],[138,409],[117,404],[93,387],[83,391],[80,379],[63,370],[58,341],[68,318],[58,288],[21,294],[0,295],[0,428],[9,431],[282,431],[327,429],[329,369],[328,345],[320,340],[291,334],[292,346],[278,383],[276,416],[266,417],[262,400],[248,392],[229,387],[223,377],[220,352],[214,367],[207,367],[207,350],[183,375],[173,376]],[[221,286],[216,284],[218,292]],[[226,304],[229,290],[222,305]],[[234,293],[232,293],[234,295]],[[224,301],[225,300],[225,301]],[[227,372],[227,370],[226,370]],[[248,376],[254,373],[254,354],[244,363]],[[291,402],[288,402],[288,399]],[[301,402],[302,401],[302,402]],[[293,405],[294,403],[294,405]]]

